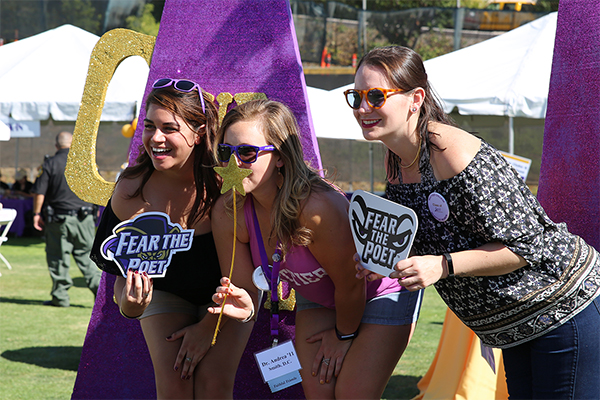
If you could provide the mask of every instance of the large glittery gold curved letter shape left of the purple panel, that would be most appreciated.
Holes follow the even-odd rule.
[[[98,40],[92,51],[65,169],[71,190],[84,201],[106,205],[114,189],[114,183],[100,176],[96,164],[96,139],[108,84],[128,57],[141,56],[150,65],[155,42],[153,36],[113,29]]]

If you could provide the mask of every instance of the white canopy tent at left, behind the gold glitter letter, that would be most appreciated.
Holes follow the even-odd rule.
[[[0,119],[75,121],[90,62],[100,38],[63,25],[0,47]],[[137,116],[148,65],[130,57],[117,68],[106,93],[102,121]]]

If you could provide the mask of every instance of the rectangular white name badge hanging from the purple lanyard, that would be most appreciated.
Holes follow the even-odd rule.
[[[272,391],[273,388],[277,391],[302,382],[302,378],[298,373],[302,366],[300,366],[300,360],[298,360],[296,349],[291,340],[259,351],[254,354],[254,357],[263,381],[269,383]],[[289,385],[285,386],[287,383]]]

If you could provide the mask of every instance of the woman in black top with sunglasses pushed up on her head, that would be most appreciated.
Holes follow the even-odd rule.
[[[221,276],[209,219],[219,194],[212,157],[217,121],[215,105],[196,83],[154,83],[146,99],[143,149],[119,176],[92,252],[101,269],[117,275],[121,314],[140,320],[159,399],[231,398],[252,329],[225,323],[222,340],[211,348],[217,317],[206,309]],[[172,223],[193,229],[192,246],[172,255],[163,278],[131,269],[124,278],[100,255],[100,245],[121,221],[145,212],[166,213]]]

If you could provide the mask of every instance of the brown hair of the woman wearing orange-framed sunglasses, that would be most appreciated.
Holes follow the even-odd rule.
[[[427,129],[429,122],[435,121],[456,126],[454,121],[444,112],[439,98],[427,80],[423,59],[408,47],[386,46],[375,48],[365,54],[358,63],[357,71],[361,65],[380,68],[394,87],[402,89],[406,93],[410,93],[419,87],[425,91],[425,99],[423,105],[419,108],[419,120],[417,122],[417,132],[421,136],[419,170],[423,172],[423,168],[426,167],[425,160],[429,159],[429,148],[440,150],[430,140],[430,135],[435,133],[429,132]],[[424,157],[424,155],[427,157]],[[387,163],[388,179],[396,179],[400,169],[400,157],[390,149],[387,151]]]

